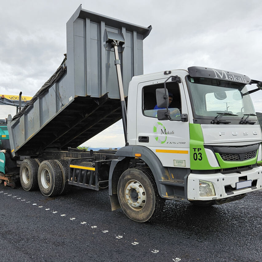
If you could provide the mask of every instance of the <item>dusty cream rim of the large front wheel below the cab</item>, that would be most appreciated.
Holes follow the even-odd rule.
[[[143,185],[136,180],[130,180],[125,185],[125,201],[134,210],[141,210],[146,203],[146,193]]]

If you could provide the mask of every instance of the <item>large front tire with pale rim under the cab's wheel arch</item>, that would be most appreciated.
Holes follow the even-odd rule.
[[[165,205],[165,199],[159,196],[153,174],[148,168],[125,170],[119,178],[117,194],[124,213],[137,222],[155,219]]]

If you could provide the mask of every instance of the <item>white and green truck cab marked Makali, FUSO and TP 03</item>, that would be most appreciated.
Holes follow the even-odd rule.
[[[260,189],[262,134],[247,89],[252,81],[202,67],[133,77],[129,146],[116,155],[140,154],[164,199],[209,206]]]

